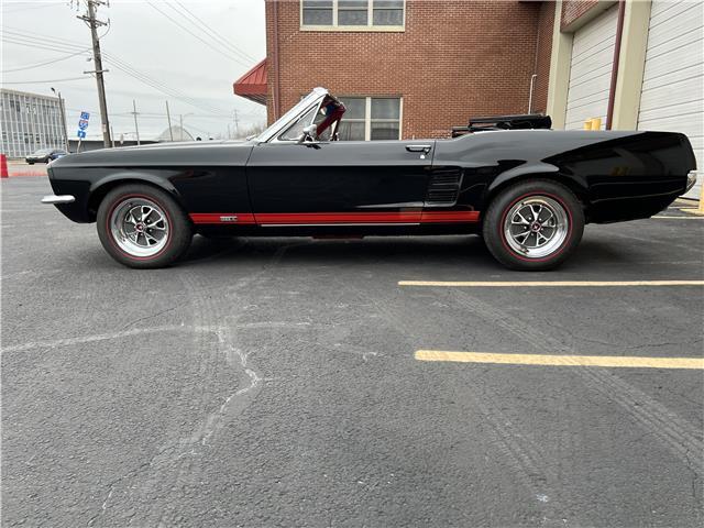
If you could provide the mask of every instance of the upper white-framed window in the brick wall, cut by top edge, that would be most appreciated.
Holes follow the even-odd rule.
[[[300,24],[307,30],[399,31],[405,0],[301,0]]]

